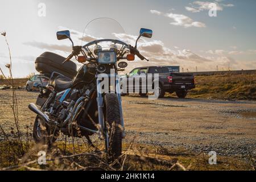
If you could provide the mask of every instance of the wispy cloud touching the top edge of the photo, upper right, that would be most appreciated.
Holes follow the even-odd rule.
[[[220,3],[221,1],[194,1],[193,3],[190,3],[190,7],[186,6],[185,9],[187,11],[190,11],[192,13],[199,13],[200,11],[206,11],[211,10],[213,8],[213,3],[216,5],[217,11],[223,11],[224,7],[233,7],[233,4],[223,4]]]

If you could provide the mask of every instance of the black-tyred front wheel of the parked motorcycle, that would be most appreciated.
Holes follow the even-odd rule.
[[[106,94],[105,102],[105,147],[110,156],[118,158],[122,154],[122,126],[119,102],[116,94]]]

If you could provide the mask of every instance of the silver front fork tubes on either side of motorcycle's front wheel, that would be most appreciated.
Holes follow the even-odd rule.
[[[97,76],[96,76],[97,77]],[[120,119],[121,119],[121,126],[122,126],[122,137],[125,137],[125,123],[123,121],[123,109],[122,109],[122,98],[121,98],[121,92],[120,92],[120,84],[119,84],[119,76],[118,75],[108,75],[109,77],[115,78],[115,94],[117,94],[118,103],[119,103],[119,112],[120,112]],[[97,79],[97,104],[98,104],[98,123],[100,125],[100,139],[105,139],[106,143],[109,144],[109,137],[108,137],[108,131],[105,129],[105,122],[104,122],[104,113],[103,113],[103,107],[104,107],[104,97],[102,97],[101,92],[101,80]],[[106,138],[104,137],[106,135]]]

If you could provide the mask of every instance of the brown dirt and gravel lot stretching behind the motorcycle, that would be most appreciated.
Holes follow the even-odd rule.
[[[16,91],[23,132],[35,114],[27,105],[38,93]],[[128,96],[123,99],[127,137],[137,143],[184,148],[191,152],[216,151],[218,155],[256,156],[256,102]],[[15,127],[11,115],[11,91],[0,90],[0,126]],[[0,136],[1,140],[1,136]]]

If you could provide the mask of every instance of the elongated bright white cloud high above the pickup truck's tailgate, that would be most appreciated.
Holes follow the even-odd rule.
[[[189,18],[188,16],[185,16],[183,14],[174,14],[174,13],[168,13],[166,14],[168,18],[171,18],[174,20],[174,22],[171,22],[170,24],[174,26],[183,26],[185,28],[188,27],[206,27],[204,23],[201,22],[194,22],[193,19]]]

